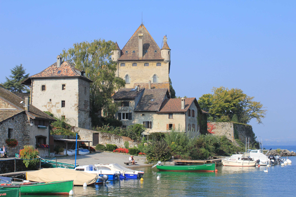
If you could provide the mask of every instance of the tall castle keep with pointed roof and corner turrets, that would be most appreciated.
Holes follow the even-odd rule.
[[[121,50],[116,43],[112,60],[117,62],[116,75],[125,80],[125,88],[140,86],[147,89],[151,82],[152,89],[170,90],[171,49],[166,36],[163,43],[160,49],[143,24]]]

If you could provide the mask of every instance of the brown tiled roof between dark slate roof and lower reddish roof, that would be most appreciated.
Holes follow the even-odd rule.
[[[168,89],[145,89],[134,111],[159,111]]]

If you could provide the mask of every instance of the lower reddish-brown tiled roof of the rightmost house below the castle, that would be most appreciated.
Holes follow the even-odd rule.
[[[196,98],[185,98],[185,108],[181,109],[181,98],[174,98],[174,99],[166,99],[160,109],[160,113],[167,113],[167,112],[186,112],[191,104],[196,102]],[[197,104],[198,106],[198,104]],[[198,106],[199,108],[199,106]]]

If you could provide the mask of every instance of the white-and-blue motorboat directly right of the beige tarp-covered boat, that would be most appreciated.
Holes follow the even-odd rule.
[[[75,167],[76,171],[84,171],[87,173],[97,174],[98,176],[102,177],[103,175],[108,176],[108,180],[117,180],[119,179],[120,172],[119,171],[113,171],[110,168],[105,169],[97,169],[94,165],[82,165]]]

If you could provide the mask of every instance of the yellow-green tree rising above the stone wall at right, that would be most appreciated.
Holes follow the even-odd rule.
[[[204,94],[198,103],[204,111],[210,113],[209,120],[216,122],[230,121],[234,115],[235,121],[247,124],[256,118],[262,123],[266,111],[260,102],[253,101],[254,97],[247,96],[241,89],[228,89],[223,86],[213,88],[212,94]]]

